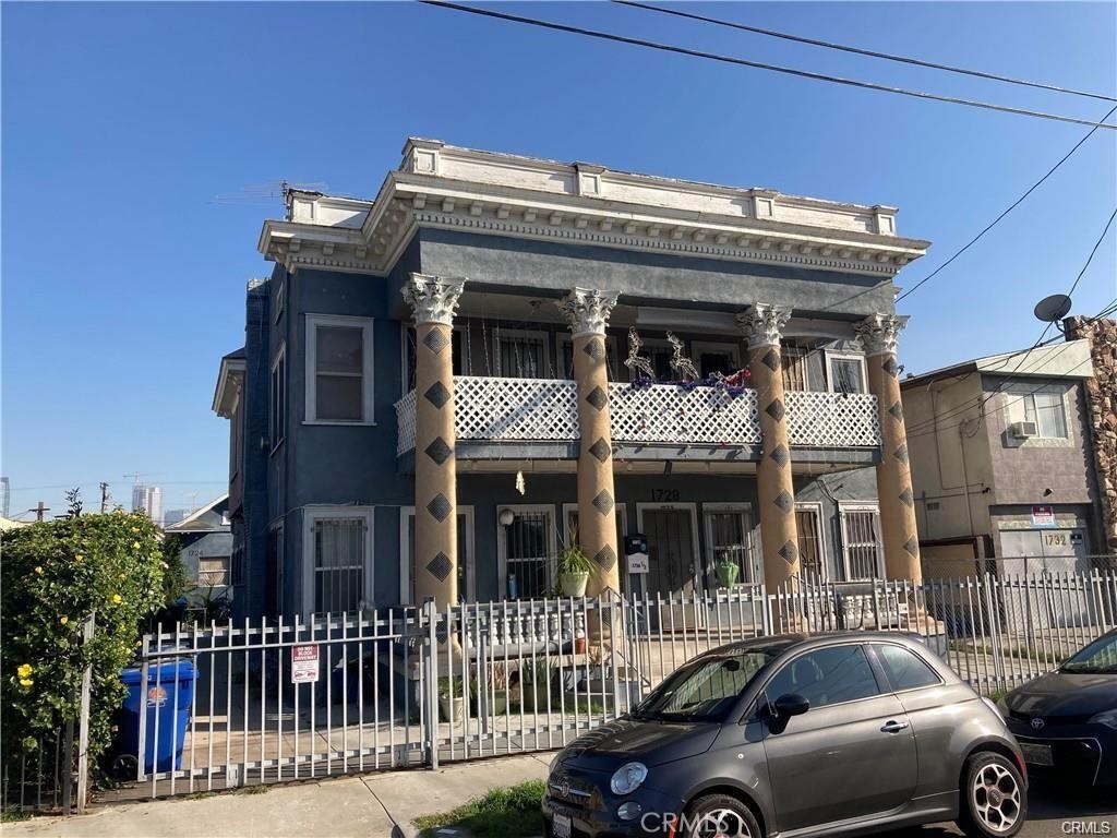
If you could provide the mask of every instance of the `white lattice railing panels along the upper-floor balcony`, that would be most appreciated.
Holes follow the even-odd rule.
[[[458,375],[455,400],[459,442],[576,442],[576,385],[565,379]],[[880,446],[877,397],[865,393],[787,391],[793,448],[862,449]],[[756,391],[716,387],[609,384],[614,445],[629,448],[704,447],[752,449],[756,458],[761,425]],[[416,446],[416,393],[395,403],[397,453]],[[467,456],[467,451],[459,451]],[[662,456],[662,455],[661,455]]]

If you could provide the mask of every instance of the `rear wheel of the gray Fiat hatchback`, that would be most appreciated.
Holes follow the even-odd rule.
[[[1028,818],[1028,791],[1020,771],[1005,756],[984,751],[966,760],[958,827],[971,838],[1009,838]]]

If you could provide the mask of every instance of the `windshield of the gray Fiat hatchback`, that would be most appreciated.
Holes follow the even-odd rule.
[[[720,722],[780,649],[731,649],[677,669],[630,714],[658,722]]]

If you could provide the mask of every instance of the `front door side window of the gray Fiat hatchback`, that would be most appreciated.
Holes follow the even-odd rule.
[[[869,698],[880,693],[865,649],[857,645],[809,651],[776,673],[764,688],[768,703],[801,695],[811,710]]]

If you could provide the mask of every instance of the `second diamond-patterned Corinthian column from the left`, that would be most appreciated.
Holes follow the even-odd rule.
[[[577,420],[582,434],[577,456],[577,540],[598,565],[586,593],[620,591],[617,508],[613,497],[613,440],[609,420],[605,323],[617,294],[574,288],[558,303],[570,323],[577,383]]]

